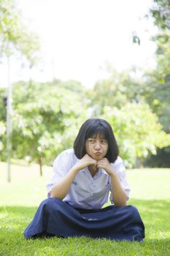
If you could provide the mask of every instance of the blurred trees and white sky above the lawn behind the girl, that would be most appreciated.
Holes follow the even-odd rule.
[[[169,0],[0,0],[1,170],[42,175],[90,117],[126,167],[170,167],[169,29]]]

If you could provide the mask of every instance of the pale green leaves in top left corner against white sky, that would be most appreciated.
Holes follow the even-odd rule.
[[[0,0],[0,59],[18,52],[30,67],[39,59],[39,38],[23,25],[15,0]]]

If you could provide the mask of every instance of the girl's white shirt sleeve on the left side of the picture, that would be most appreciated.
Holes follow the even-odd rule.
[[[50,197],[50,192],[53,186],[61,179],[66,176],[66,173],[72,167],[72,154],[69,151],[63,151],[61,154],[55,158],[53,162],[53,176],[50,178],[50,181],[47,183],[47,196]]]

